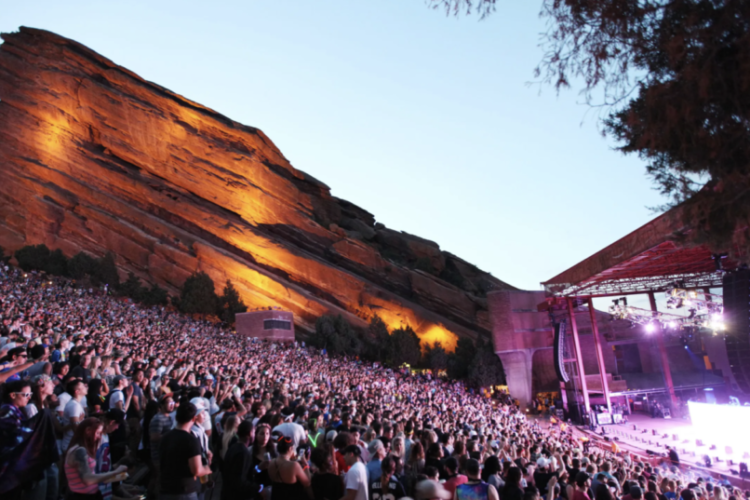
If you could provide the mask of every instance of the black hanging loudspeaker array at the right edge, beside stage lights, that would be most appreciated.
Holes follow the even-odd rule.
[[[750,394],[750,270],[726,273],[723,295],[729,366],[737,386]]]

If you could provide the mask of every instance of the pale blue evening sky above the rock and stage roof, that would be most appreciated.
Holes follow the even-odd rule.
[[[334,196],[538,290],[663,202],[580,87],[534,82],[540,6],[480,21],[425,0],[0,0],[0,31],[72,38],[258,127]]]

